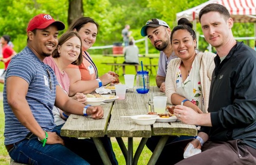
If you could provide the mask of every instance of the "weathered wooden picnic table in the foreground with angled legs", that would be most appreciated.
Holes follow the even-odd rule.
[[[159,93],[160,91],[155,86],[150,87],[150,92]],[[115,137],[125,157],[126,164],[137,165],[147,139],[151,135],[159,135],[161,139],[148,162],[148,165],[154,165],[170,135],[195,136],[197,129],[195,125],[183,124],[182,122],[172,122],[171,124],[167,122],[155,122],[153,125],[138,125],[131,118],[120,118],[120,116],[147,114],[151,111],[148,98],[149,93],[138,94],[135,88],[128,89],[125,100],[115,100],[114,102],[102,105],[104,109],[103,119],[94,120],[90,116],[71,114],[61,129],[61,135],[67,137],[91,137],[105,165],[111,165],[111,163],[99,137],[103,137],[104,135]],[[128,137],[127,148],[122,137]],[[142,137],[134,155],[133,137]]]

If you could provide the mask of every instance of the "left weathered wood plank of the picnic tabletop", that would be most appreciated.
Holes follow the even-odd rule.
[[[71,114],[61,129],[61,135],[67,137],[103,137],[106,133],[113,102],[101,105],[104,110],[102,119],[93,119],[90,116]]]

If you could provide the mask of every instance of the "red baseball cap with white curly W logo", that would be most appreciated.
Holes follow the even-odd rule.
[[[49,14],[39,14],[34,16],[28,23],[28,31],[33,31],[35,29],[45,29],[49,25],[55,24],[58,30],[65,29],[65,24],[61,21],[55,21]]]

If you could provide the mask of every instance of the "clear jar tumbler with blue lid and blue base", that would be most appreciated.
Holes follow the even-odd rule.
[[[149,91],[148,71],[137,71],[136,90],[138,93],[144,94]]]

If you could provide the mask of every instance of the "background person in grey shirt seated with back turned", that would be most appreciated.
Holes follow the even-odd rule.
[[[125,47],[125,62],[123,64],[139,64],[139,48],[133,43],[129,42],[129,46]],[[138,66],[135,66],[136,73]],[[123,66],[123,75],[125,75],[125,66]]]

